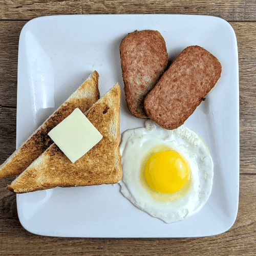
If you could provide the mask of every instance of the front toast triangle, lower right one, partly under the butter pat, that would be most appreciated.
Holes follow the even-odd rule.
[[[56,186],[117,183],[122,178],[118,83],[85,114],[103,136],[99,143],[75,163],[54,143],[7,188],[26,193]]]

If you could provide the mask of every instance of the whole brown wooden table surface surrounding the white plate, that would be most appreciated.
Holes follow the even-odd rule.
[[[0,254],[256,255],[256,0],[53,1],[0,0],[0,163],[15,150],[17,54],[28,20],[53,14],[164,13],[213,15],[237,35],[240,72],[240,202],[232,228],[219,236],[187,239],[41,237],[19,223],[16,196],[0,180]]]

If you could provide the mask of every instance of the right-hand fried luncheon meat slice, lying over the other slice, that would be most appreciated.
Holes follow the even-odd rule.
[[[146,114],[173,130],[193,114],[221,76],[219,60],[199,46],[183,50],[144,100]]]

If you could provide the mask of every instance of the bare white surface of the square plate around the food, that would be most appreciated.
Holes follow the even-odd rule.
[[[54,188],[17,195],[18,217],[30,232],[62,237],[202,237],[227,231],[239,197],[237,40],[225,20],[196,15],[67,15],[35,18],[19,39],[17,147],[84,79],[97,70],[101,96],[123,88],[119,44],[135,30],[158,30],[170,59],[199,45],[222,64],[222,76],[185,124],[203,137],[215,166],[211,196],[182,222],[165,224],[136,208],[119,185]],[[127,110],[122,90],[120,132],[144,126]]]

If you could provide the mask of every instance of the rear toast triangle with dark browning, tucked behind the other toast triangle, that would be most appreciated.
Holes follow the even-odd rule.
[[[79,108],[85,112],[99,99],[99,74],[94,71],[86,81],[0,166],[0,178],[21,174],[53,141],[48,133]]]

